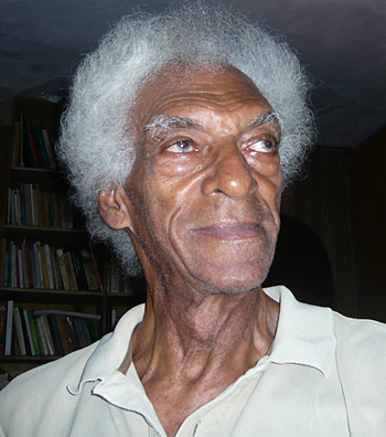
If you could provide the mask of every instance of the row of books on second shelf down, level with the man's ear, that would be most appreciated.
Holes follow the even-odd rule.
[[[37,183],[21,182],[8,190],[7,224],[72,230],[74,211],[67,194],[50,194]]]

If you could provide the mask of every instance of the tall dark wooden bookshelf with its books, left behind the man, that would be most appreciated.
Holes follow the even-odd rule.
[[[62,347],[63,332],[68,334],[73,341],[68,353],[86,345],[79,340],[84,333],[87,337],[87,327],[92,331],[90,319],[97,331],[86,339],[87,344],[96,340],[96,332],[100,338],[109,331],[116,317],[144,301],[144,283],[124,280],[107,251],[90,247],[83,218],[68,202],[64,172],[49,159],[61,111],[61,104],[15,97],[11,126],[0,127],[0,302],[12,301],[13,308],[22,308],[20,316],[24,311],[26,324],[31,312],[36,330],[43,323],[39,311],[56,311],[44,317],[52,334],[56,326],[62,330]],[[42,318],[39,323],[37,318]],[[78,329],[74,335],[68,331],[72,323]],[[0,353],[0,369],[12,376],[63,355],[58,338],[53,339],[49,353],[43,353],[42,339],[40,354],[24,353],[17,339],[15,319],[12,324],[11,352]]]

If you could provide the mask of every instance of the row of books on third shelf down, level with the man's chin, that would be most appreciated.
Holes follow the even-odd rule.
[[[103,290],[96,254],[35,242],[3,239],[0,286],[47,290]]]

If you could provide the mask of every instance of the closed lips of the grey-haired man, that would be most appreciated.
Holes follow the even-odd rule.
[[[232,241],[257,238],[261,234],[261,227],[257,223],[233,222],[212,224],[208,226],[194,228],[193,232],[197,232],[216,239]]]

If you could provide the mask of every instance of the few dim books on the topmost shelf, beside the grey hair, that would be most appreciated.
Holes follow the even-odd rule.
[[[12,166],[56,169],[54,138],[51,129],[33,126],[26,114],[15,121]]]

